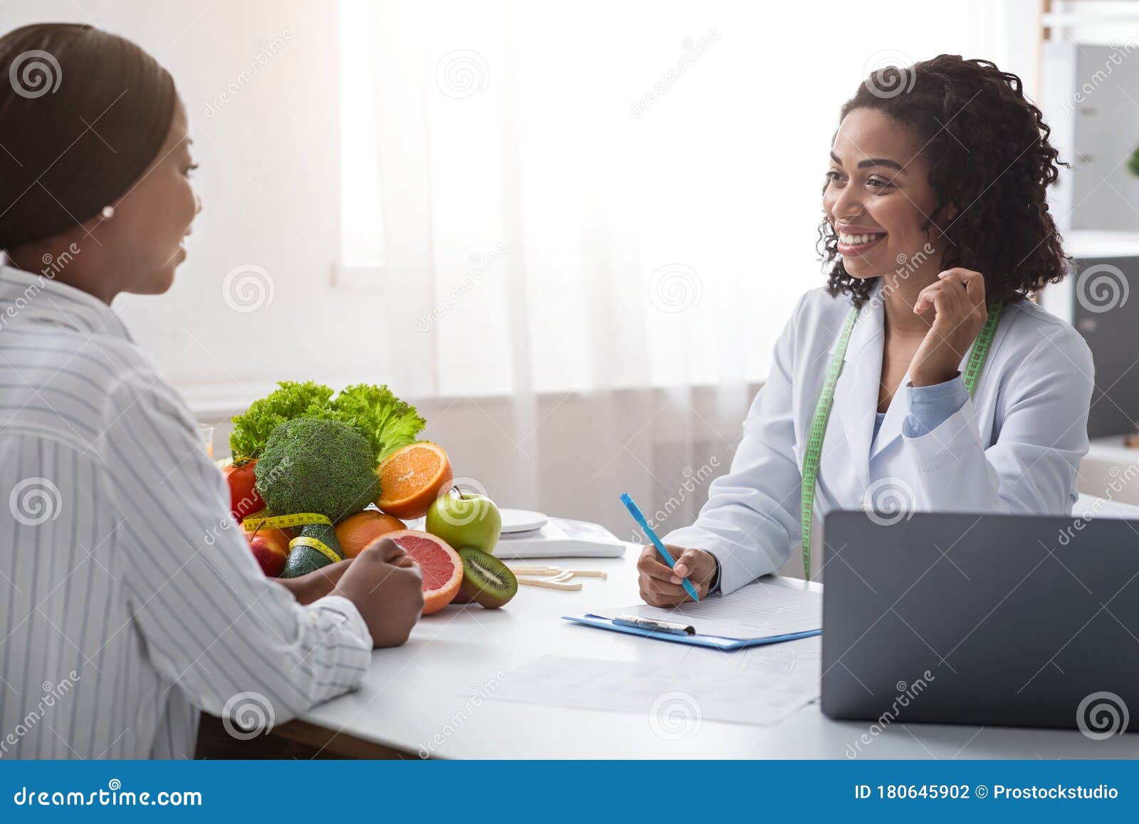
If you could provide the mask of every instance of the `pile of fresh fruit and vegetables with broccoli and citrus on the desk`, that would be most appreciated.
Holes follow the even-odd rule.
[[[415,407],[387,386],[333,394],[282,381],[233,417],[233,460],[223,467],[230,512],[264,573],[296,578],[387,537],[423,571],[425,615],[509,602],[518,581],[494,557],[498,507],[452,487],[443,448],[416,440],[426,421]],[[407,529],[425,515],[426,531]]]

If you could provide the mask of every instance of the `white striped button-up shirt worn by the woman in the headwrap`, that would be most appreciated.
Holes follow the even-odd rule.
[[[98,299],[0,268],[0,758],[192,757],[359,685],[351,602],[301,606],[194,416]]]

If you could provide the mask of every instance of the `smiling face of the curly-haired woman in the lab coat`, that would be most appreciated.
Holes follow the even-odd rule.
[[[940,260],[937,232],[923,228],[936,196],[928,164],[916,156],[920,148],[904,125],[882,112],[857,108],[839,124],[822,209],[852,277],[895,271],[927,243],[935,253],[926,256]]]

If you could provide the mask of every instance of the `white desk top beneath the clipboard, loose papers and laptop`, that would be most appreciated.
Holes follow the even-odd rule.
[[[642,713],[622,713],[482,701],[465,709],[474,688],[494,679],[500,670],[508,680],[511,668],[543,653],[666,662],[689,650],[560,619],[571,612],[636,603],[636,554],[631,547],[621,560],[551,561],[564,568],[609,572],[607,580],[576,579],[584,584],[581,592],[523,587],[502,610],[449,606],[428,615],[407,645],[372,654],[371,670],[359,691],[321,704],[303,720],[411,753],[439,734],[443,743],[432,754],[441,758],[847,757],[847,744],[867,732],[868,723],[833,721],[818,703],[773,727],[705,719],[695,734],[679,741],[653,732],[648,707]],[[708,666],[727,655],[747,654],[702,652]],[[894,724],[863,745],[860,758],[1139,758],[1139,735],[1091,741],[1077,731]]]

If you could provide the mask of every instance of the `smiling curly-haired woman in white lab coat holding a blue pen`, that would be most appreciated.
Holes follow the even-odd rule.
[[[823,189],[829,282],[776,343],[731,470],[665,536],[675,569],[641,555],[646,602],[688,599],[685,576],[702,596],[731,593],[782,566],[804,525],[818,570],[834,508],[1071,512],[1092,361],[1029,300],[1066,270],[1048,136],[1019,79],[984,60],[942,55],[862,83]]]

